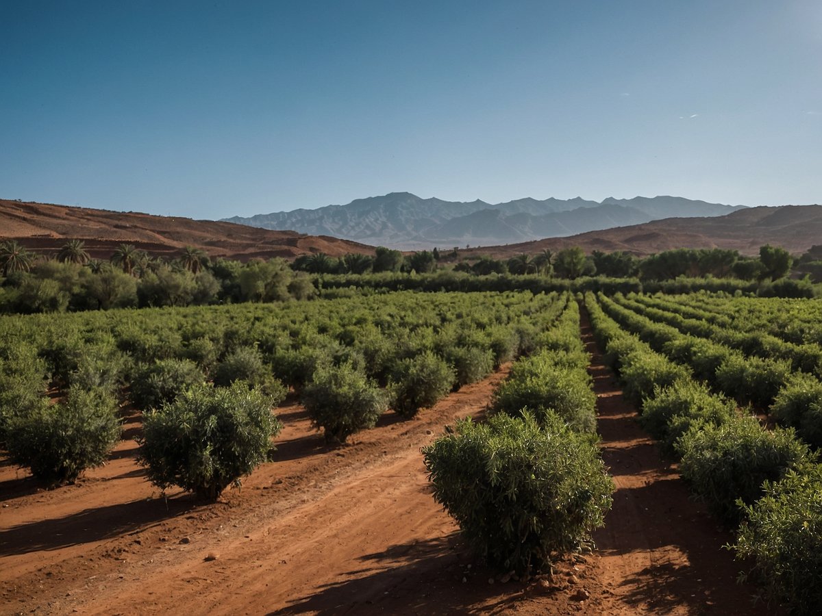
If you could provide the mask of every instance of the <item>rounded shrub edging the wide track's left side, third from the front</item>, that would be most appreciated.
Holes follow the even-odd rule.
[[[446,361],[430,351],[397,361],[389,385],[394,410],[413,417],[419,409],[432,407],[450,392],[455,377]]]

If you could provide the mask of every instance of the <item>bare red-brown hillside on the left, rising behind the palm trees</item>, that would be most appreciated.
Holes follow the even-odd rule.
[[[274,256],[288,259],[315,252],[332,256],[374,252],[372,246],[355,241],[293,231],[0,199],[0,240],[5,239],[16,239],[39,252],[58,251],[67,239],[81,239],[85,250],[99,259],[108,259],[123,242],[152,255],[175,255],[183,246],[196,246],[213,257],[243,261]]]

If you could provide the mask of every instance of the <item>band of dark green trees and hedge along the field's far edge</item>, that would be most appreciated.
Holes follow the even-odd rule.
[[[110,260],[95,260],[79,240],[67,241],[54,258],[47,258],[8,240],[0,242],[0,313],[302,300],[326,289],[352,288],[819,295],[820,287],[813,283],[820,281],[786,277],[791,264],[791,255],[773,246],[763,246],[759,259],[736,251],[680,249],[640,260],[626,252],[585,255],[579,247],[570,247],[556,254],[461,261],[455,251],[403,255],[377,247],[374,256],[316,253],[289,264],[283,259],[210,260],[192,246],[164,260],[129,244],[118,246]]]

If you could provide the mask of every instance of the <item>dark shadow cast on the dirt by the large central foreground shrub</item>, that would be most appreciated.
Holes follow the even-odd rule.
[[[472,557],[456,531],[358,560],[368,566],[344,575],[359,577],[326,584],[270,614],[492,614],[516,599],[511,586],[488,584],[487,568],[462,564]]]

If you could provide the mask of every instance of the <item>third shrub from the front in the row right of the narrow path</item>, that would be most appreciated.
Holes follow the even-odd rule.
[[[674,444],[695,422],[721,425],[734,416],[735,410],[732,401],[714,396],[704,385],[680,379],[645,401],[640,423],[659,441],[663,452],[672,455]]]

